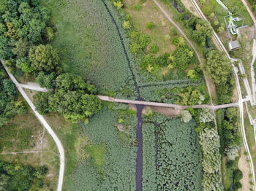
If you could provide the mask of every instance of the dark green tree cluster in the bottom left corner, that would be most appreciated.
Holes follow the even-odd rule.
[[[46,174],[46,166],[33,168],[31,165],[0,161],[0,190],[28,191],[33,182],[37,182],[38,189],[42,188]]]

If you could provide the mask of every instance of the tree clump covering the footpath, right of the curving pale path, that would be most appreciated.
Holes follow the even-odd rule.
[[[89,85],[80,76],[61,74],[53,83],[53,93],[40,93],[35,105],[41,114],[60,112],[66,120],[78,122],[86,120],[101,109],[96,87]]]

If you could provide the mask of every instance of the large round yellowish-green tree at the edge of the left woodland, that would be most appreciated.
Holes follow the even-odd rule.
[[[59,66],[58,51],[50,44],[40,44],[29,50],[31,66],[37,71],[54,71]]]

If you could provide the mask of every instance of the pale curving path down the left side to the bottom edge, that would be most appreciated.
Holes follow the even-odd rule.
[[[24,92],[24,90],[22,89],[22,87],[20,86],[18,81],[9,72],[9,70],[7,69],[7,66],[5,66],[5,64],[4,64],[4,61],[1,61],[1,63],[4,66],[4,69],[7,71],[7,74],[9,75],[10,79],[12,79],[12,82],[15,83],[15,85],[16,85],[17,89],[19,90],[20,94],[23,96],[23,98],[26,100],[26,102],[31,107],[34,114],[37,116],[38,120],[42,123],[42,125],[46,128],[46,130],[48,130],[48,132],[50,133],[50,136],[53,137],[53,140],[55,141],[55,143],[56,143],[56,145],[59,149],[59,157],[60,157],[59,163],[60,164],[59,164],[59,182],[58,182],[57,191],[61,191],[62,184],[63,184],[63,177],[64,177],[64,166],[65,166],[64,148],[62,147],[61,141],[59,140],[58,136],[56,136],[56,133],[53,132],[52,128],[50,128],[50,125],[48,125],[48,122],[46,122],[45,118],[42,117],[42,115],[39,114],[36,111],[36,108],[35,108],[34,104],[32,103],[32,101],[29,99],[29,96],[26,95],[26,93]]]

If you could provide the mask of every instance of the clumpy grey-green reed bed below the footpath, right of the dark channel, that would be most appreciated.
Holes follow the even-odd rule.
[[[157,181],[156,190],[202,190],[202,153],[194,130],[195,120],[185,123],[179,118],[171,119],[154,114],[145,117],[145,121],[154,122],[154,127],[146,124],[147,129],[143,132],[146,133],[146,137],[155,136],[155,138],[148,140],[151,145],[145,142],[143,144],[149,146],[150,153],[153,153],[153,147],[155,147],[157,155],[156,158],[148,157],[146,167],[149,163],[153,165],[156,161],[157,172],[154,177],[154,168],[145,167],[146,171],[149,170],[146,175],[150,181],[143,182],[143,187],[148,184],[148,187],[154,190],[154,182]],[[156,130],[148,130],[148,128]],[[154,140],[156,140],[155,143]]]

